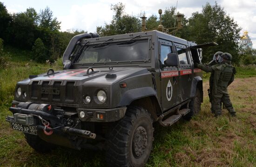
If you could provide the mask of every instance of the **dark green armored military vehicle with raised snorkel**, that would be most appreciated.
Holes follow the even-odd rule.
[[[157,30],[71,39],[64,70],[49,69],[16,85],[7,116],[27,143],[45,153],[56,145],[106,150],[111,166],[141,167],[153,122],[190,119],[202,103],[202,48]]]

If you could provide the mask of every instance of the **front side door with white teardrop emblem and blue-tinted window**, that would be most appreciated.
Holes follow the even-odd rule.
[[[177,67],[168,67],[165,60],[168,53],[174,53],[172,42],[159,40],[159,61],[161,66],[161,105],[165,111],[180,103],[179,96],[180,82]]]

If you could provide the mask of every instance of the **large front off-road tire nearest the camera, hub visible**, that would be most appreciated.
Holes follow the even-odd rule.
[[[143,167],[153,143],[150,113],[141,107],[128,107],[124,118],[112,129],[106,150],[108,166]]]

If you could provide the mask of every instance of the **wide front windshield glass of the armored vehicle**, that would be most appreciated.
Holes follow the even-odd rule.
[[[75,64],[145,61],[149,59],[148,39],[132,43],[115,42],[104,45],[88,45],[75,60]]]

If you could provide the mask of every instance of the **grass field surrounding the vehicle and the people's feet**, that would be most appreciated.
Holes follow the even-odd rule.
[[[28,75],[39,74],[50,68],[48,64],[35,64],[13,58],[6,70],[0,71],[0,167],[104,167],[104,152],[76,151],[58,148],[50,154],[38,154],[30,148],[23,134],[14,131],[5,122],[13,100],[17,81]],[[60,68],[58,63],[54,69]],[[253,71],[254,70],[254,71]],[[179,121],[164,128],[155,124],[155,141],[147,167],[169,166],[256,166],[256,72],[239,69],[235,82],[229,86],[231,101],[237,117],[210,114],[209,87],[204,79],[204,103],[198,116],[190,122]],[[207,78],[207,76],[206,76]]]

